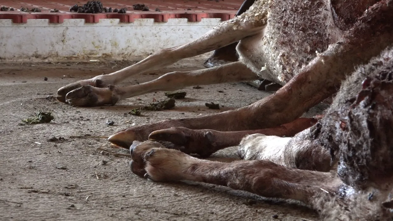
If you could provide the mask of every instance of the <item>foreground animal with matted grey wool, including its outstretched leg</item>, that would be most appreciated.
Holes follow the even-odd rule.
[[[316,125],[293,138],[263,135],[262,143],[245,147],[246,151],[255,151],[260,156],[266,154],[261,158],[213,162],[167,149],[157,142],[134,142],[130,148],[131,170],[154,181],[207,182],[264,197],[298,200],[320,212],[324,220],[390,220],[393,218],[389,211],[393,201],[388,194],[393,190],[392,70],[393,48],[388,48],[380,57],[360,66],[343,83],[331,107]],[[262,134],[250,136],[255,135]],[[263,142],[274,145],[266,141],[274,137],[288,139],[281,147],[291,147],[294,152],[272,154],[269,149],[260,149]],[[242,142],[256,140],[247,139]],[[280,152],[281,147],[274,151]],[[305,157],[311,148],[314,151]],[[321,159],[318,150],[324,150],[322,155],[328,157]],[[308,163],[291,166],[283,160],[285,156],[303,157]],[[339,164],[331,172],[322,172],[326,168],[315,167],[313,161],[330,163],[329,169],[336,162]],[[367,197],[369,193],[373,193],[372,199]]]

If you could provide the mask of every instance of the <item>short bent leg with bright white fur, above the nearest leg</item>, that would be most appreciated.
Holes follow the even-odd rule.
[[[328,148],[305,129],[294,137],[252,134],[242,139],[237,154],[244,160],[269,160],[288,168],[329,172],[334,162]]]

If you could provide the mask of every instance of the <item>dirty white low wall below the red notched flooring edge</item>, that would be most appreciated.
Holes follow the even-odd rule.
[[[62,24],[47,19],[31,19],[25,24],[0,20],[0,61],[59,61],[70,59],[132,59],[145,57],[162,48],[187,43],[211,30],[220,18],[187,22],[135,19],[66,19]]]

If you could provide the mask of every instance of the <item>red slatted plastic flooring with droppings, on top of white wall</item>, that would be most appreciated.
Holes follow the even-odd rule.
[[[78,0],[2,0],[1,6],[13,7],[13,12],[0,11],[0,19],[13,19],[15,23],[26,23],[27,19],[49,19],[51,23],[62,23],[64,19],[83,18],[87,23],[98,22],[102,18],[119,18],[120,22],[134,22],[136,18],[154,18],[155,22],[167,22],[169,18],[187,18],[199,22],[202,18],[233,18],[243,0],[103,0],[104,7],[127,8],[126,14],[99,13],[84,14],[70,12],[74,4],[83,5],[87,1]],[[145,4],[150,11],[133,10],[132,5]],[[25,13],[21,7],[37,7],[40,13]],[[160,12],[155,9],[160,9]],[[58,13],[50,10],[58,9]]]

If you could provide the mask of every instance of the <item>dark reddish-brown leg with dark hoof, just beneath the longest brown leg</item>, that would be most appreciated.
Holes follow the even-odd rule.
[[[298,118],[279,127],[251,131],[214,131],[209,129],[192,130],[185,127],[172,127],[154,131],[149,140],[171,142],[187,154],[209,157],[212,153],[226,147],[239,145],[248,134],[266,134],[275,136],[294,136],[317,122],[314,118]]]

